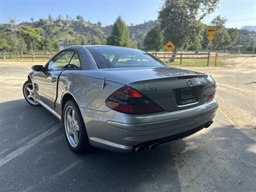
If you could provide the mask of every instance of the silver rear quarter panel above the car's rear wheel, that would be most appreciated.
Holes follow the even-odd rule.
[[[79,108],[97,111],[109,111],[105,101],[123,84],[106,81],[102,90],[104,79],[87,76],[85,70],[65,70],[61,73],[58,83],[56,111],[61,114],[61,102],[65,94],[70,93]]]

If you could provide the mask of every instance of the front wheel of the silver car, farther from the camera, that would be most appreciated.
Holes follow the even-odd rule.
[[[33,107],[40,106],[40,104],[35,100],[36,98],[35,90],[33,88],[33,84],[30,79],[23,84],[22,93],[26,102],[28,102],[28,104],[30,104]]]

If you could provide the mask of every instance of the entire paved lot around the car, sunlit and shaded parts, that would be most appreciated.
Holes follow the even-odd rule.
[[[77,155],[60,122],[22,98],[29,65],[0,63],[0,191],[256,191],[253,70],[196,68],[222,84],[208,129],[137,154]]]

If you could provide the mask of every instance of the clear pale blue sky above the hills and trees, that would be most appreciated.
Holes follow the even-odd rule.
[[[103,26],[113,24],[121,15],[127,24],[140,24],[156,20],[163,0],[0,0],[0,23],[8,23],[10,18],[17,22],[38,20],[51,14],[71,16],[82,15],[84,20],[97,22]],[[256,26],[256,0],[221,0],[214,13],[205,17],[205,24],[221,15],[228,19],[228,28]]]

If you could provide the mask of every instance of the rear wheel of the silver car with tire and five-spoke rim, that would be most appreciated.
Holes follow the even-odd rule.
[[[79,131],[77,131],[77,125]],[[73,152],[83,153],[92,150],[82,115],[76,102],[72,99],[66,102],[63,109],[63,127],[68,147]]]

